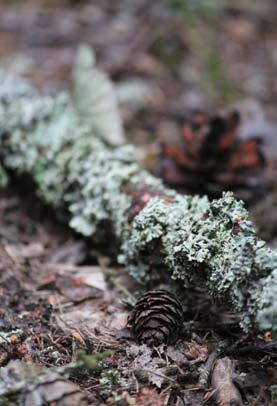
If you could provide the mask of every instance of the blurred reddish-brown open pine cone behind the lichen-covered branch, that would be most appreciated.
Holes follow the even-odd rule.
[[[223,190],[233,190],[245,200],[263,196],[266,161],[261,139],[240,139],[239,125],[237,112],[227,117],[193,114],[181,128],[179,145],[162,145],[164,181],[211,198]]]

